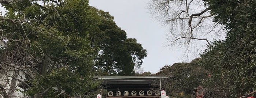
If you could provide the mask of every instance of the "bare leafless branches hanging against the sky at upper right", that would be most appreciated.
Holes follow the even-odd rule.
[[[214,39],[223,38],[223,26],[212,22],[214,15],[210,14],[204,1],[151,0],[151,14],[170,28],[167,47],[179,46],[185,49],[184,56],[188,57],[189,54],[198,54]]]

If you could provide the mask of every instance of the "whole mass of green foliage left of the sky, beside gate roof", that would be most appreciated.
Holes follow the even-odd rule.
[[[26,85],[23,93],[32,97],[86,96],[98,86],[93,75],[133,75],[147,55],[114,17],[88,0],[1,4],[7,12],[0,17],[0,40],[6,41],[1,73],[23,72],[25,78],[12,79]]]

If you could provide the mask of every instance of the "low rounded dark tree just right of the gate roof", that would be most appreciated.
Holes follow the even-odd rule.
[[[167,75],[171,78],[162,80],[162,87],[171,96],[177,97],[179,93],[186,96],[194,94],[194,88],[200,85],[203,79],[207,78],[207,71],[200,67],[198,61],[194,59],[191,63],[175,63],[166,65],[157,72],[157,75]]]

